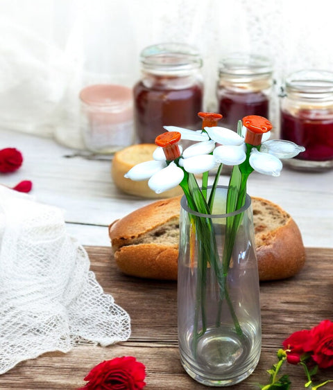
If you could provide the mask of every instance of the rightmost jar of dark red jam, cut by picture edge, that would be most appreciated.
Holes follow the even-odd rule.
[[[333,168],[333,73],[305,70],[285,80],[280,100],[280,136],[305,147],[286,161],[298,170]]]

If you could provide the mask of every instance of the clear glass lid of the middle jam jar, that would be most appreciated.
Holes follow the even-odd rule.
[[[231,76],[269,75],[273,71],[271,61],[262,55],[231,53],[219,61],[219,73]]]

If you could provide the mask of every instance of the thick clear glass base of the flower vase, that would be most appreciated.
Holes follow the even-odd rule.
[[[193,339],[191,340],[193,343]],[[253,337],[239,336],[231,328],[206,330],[198,339],[196,360],[180,357],[185,371],[201,384],[228,387],[248,378],[259,361],[260,345],[253,348]]]

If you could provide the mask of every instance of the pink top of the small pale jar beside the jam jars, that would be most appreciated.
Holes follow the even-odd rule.
[[[80,100],[96,107],[123,107],[132,104],[132,89],[113,84],[89,85],[80,91]]]

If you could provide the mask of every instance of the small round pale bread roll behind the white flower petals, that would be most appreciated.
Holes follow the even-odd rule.
[[[180,195],[182,193],[180,186],[157,194],[148,187],[148,180],[133,181],[123,176],[138,163],[152,160],[153,152],[156,148],[157,146],[153,143],[139,143],[115,153],[111,165],[111,176],[114,184],[124,193],[138,197],[161,199]]]

